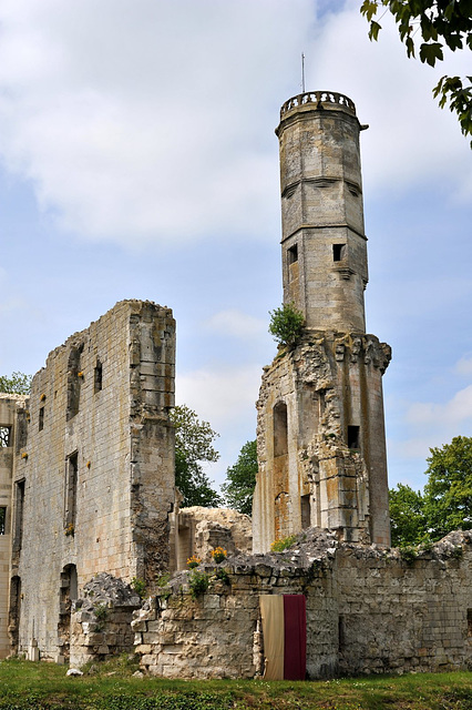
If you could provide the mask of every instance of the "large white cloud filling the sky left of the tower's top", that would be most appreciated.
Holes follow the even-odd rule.
[[[6,0],[3,161],[85,237],[276,226],[267,123],[312,12],[301,0]]]

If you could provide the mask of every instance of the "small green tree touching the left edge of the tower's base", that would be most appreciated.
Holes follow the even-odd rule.
[[[257,443],[246,442],[239,452],[237,462],[226,471],[226,483],[222,490],[229,508],[250,515],[253,494],[257,474]]]

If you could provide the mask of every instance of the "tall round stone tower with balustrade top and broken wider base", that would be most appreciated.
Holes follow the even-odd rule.
[[[390,542],[381,378],[391,353],[366,334],[362,128],[339,93],[280,110],[284,303],[306,327],[263,376],[255,551],[308,527]]]

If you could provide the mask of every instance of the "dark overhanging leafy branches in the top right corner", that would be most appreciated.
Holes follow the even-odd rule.
[[[383,13],[378,18],[379,10]],[[363,0],[360,11],[370,23],[371,40],[382,29],[377,19],[390,12],[408,57],[415,57],[419,44],[420,61],[430,67],[442,61],[444,45],[453,52],[472,49],[472,0]],[[441,109],[449,101],[463,135],[472,136],[472,77],[442,77],[433,97],[439,98]]]

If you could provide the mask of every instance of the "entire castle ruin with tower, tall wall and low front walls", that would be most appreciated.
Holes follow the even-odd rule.
[[[389,548],[391,353],[365,325],[362,128],[335,92],[281,108],[284,302],[306,325],[264,368],[254,554],[243,516],[179,510],[175,322],[123,301],[49,355],[29,397],[0,395],[0,658],[80,666],[134,647],[167,678],[471,666],[472,532],[409,558]],[[184,569],[194,552],[198,594]]]

